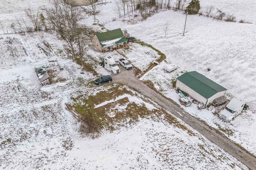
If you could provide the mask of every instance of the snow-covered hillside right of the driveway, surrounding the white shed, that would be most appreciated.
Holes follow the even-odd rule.
[[[170,26],[165,37],[166,23]],[[234,133],[229,136],[230,139],[256,155],[256,143],[253,139],[256,135],[256,25],[188,16],[185,36],[182,36],[184,23],[183,14],[166,11],[135,25],[113,21],[114,26],[111,28],[127,29],[131,36],[166,54],[166,63],[179,65],[174,72],[165,73],[162,68],[166,63],[163,62],[141,78],[152,80],[158,90],[177,103],[178,96],[170,88],[171,80],[180,75],[182,70],[197,71],[227,88],[226,96],[229,99],[238,98],[246,102],[250,110],[231,123],[225,123],[214,116],[212,112],[215,109],[212,107],[209,110],[198,110],[193,106],[184,109],[213,127],[229,129]]]

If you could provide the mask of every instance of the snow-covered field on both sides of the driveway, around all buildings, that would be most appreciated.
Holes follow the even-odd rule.
[[[1,0],[0,3],[1,169],[246,169],[193,129],[195,135],[188,135],[187,131],[166,123],[164,119],[142,119],[128,129],[106,132],[94,140],[80,137],[76,121],[66,111],[65,103],[69,102],[74,91],[86,92],[76,78],[89,82],[95,77],[80,74],[81,67],[66,58],[63,42],[54,35],[3,34],[6,30],[12,32],[10,25],[24,15],[27,6],[36,9],[46,5],[46,1]],[[250,110],[231,123],[224,123],[213,115],[214,107],[198,110],[192,104],[184,109],[212,127],[232,131],[228,137],[256,155],[255,2],[237,2],[246,8],[227,0],[214,4],[202,0],[201,3],[202,7],[213,5],[224,12],[234,12],[236,18],[252,24],[188,16],[185,36],[182,36],[185,16],[179,12],[161,12],[144,22],[129,25],[119,20],[112,21],[112,18],[118,18],[112,10],[113,2],[106,4],[102,15],[96,18],[100,23],[111,21],[105,25],[107,29],[110,26],[111,29],[127,29],[132,36],[166,54],[166,61],[141,80],[152,80],[160,92],[175,102],[179,103],[178,95],[170,88],[170,82],[182,70],[198,71],[227,88],[229,98],[245,101]],[[92,21],[92,18],[86,20],[87,23]],[[166,23],[169,27],[165,37]],[[51,49],[47,49],[45,41]],[[50,54],[47,56],[42,48]],[[142,66],[143,70],[145,66],[139,59],[144,59],[148,49],[136,44],[131,44],[131,48],[134,50],[126,57]],[[88,53],[96,57],[102,55],[93,49]],[[34,66],[48,62],[49,57],[57,58],[73,70],[75,80],[41,87]],[[178,64],[179,68],[166,73],[162,68],[170,62]],[[103,68],[98,72],[108,74]],[[137,102],[141,100],[138,98]]]

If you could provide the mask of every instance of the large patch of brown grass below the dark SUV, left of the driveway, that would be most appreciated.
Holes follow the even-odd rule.
[[[146,82],[148,86],[154,86],[150,81]],[[100,91],[96,96],[76,96],[72,98],[73,104],[67,104],[76,113],[83,117],[80,131],[86,134],[100,132],[102,129],[114,131],[120,127],[137,123],[140,119],[152,119],[152,121],[163,121],[170,123],[178,128],[187,131],[190,135],[194,135],[186,126],[182,125],[175,117],[168,114],[164,109],[149,110],[144,104],[136,104],[130,102],[128,97],[124,97],[115,101],[115,99],[123,94],[134,96],[131,91],[126,89],[118,90],[119,86],[115,86],[105,91]],[[114,102],[111,102],[114,101]],[[141,99],[146,100],[146,99]],[[95,105],[109,101],[104,106],[95,108]],[[146,102],[149,102],[146,100]],[[119,107],[117,107],[119,106]],[[122,109],[118,109],[122,108]],[[95,135],[94,135],[95,137]]]

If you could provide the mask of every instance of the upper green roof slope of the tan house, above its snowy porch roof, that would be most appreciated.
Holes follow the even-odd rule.
[[[124,37],[124,34],[123,34],[122,30],[120,28],[118,28],[118,29],[114,29],[114,30],[107,31],[104,33],[98,33],[98,34],[96,34],[96,36],[101,43],[104,41],[110,41],[112,39]]]

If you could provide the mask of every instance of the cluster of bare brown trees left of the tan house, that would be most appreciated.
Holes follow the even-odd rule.
[[[31,8],[25,9],[28,24],[24,18],[16,20],[10,27],[14,33],[33,31],[55,31],[66,42],[66,51],[73,61],[86,56],[86,48],[91,41],[86,24],[81,24],[86,13],[76,5],[75,0],[48,0],[49,6],[41,8],[41,12]],[[82,62],[83,64],[83,62]]]

